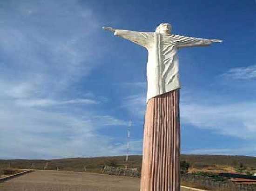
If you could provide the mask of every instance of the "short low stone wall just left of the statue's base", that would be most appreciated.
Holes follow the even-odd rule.
[[[101,172],[102,174],[111,174],[116,176],[141,177],[140,172],[136,169],[126,169],[113,166],[104,166]]]

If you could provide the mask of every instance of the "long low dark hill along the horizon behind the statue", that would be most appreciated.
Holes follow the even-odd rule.
[[[128,167],[141,169],[142,156],[133,155],[129,157]],[[256,157],[249,156],[226,156],[226,155],[190,155],[182,154],[181,160],[186,160],[191,166],[236,166],[242,162],[245,166],[256,167]],[[9,166],[12,168],[23,169],[41,169],[43,170],[48,163],[47,170],[66,171],[88,171],[101,172],[101,166],[124,166],[126,165],[125,156],[113,157],[95,157],[95,158],[69,158],[69,159],[51,159],[51,160],[33,160],[33,159],[10,159],[0,160],[0,168]]]

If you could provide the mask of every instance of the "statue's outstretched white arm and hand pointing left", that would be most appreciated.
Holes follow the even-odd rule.
[[[154,32],[135,32],[127,30],[114,29],[112,27],[103,27],[104,30],[114,32],[116,36],[130,40],[145,48],[149,48],[154,40]]]

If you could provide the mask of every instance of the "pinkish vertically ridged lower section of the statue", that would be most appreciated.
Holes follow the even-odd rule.
[[[148,101],[141,191],[180,191],[179,89]]]

